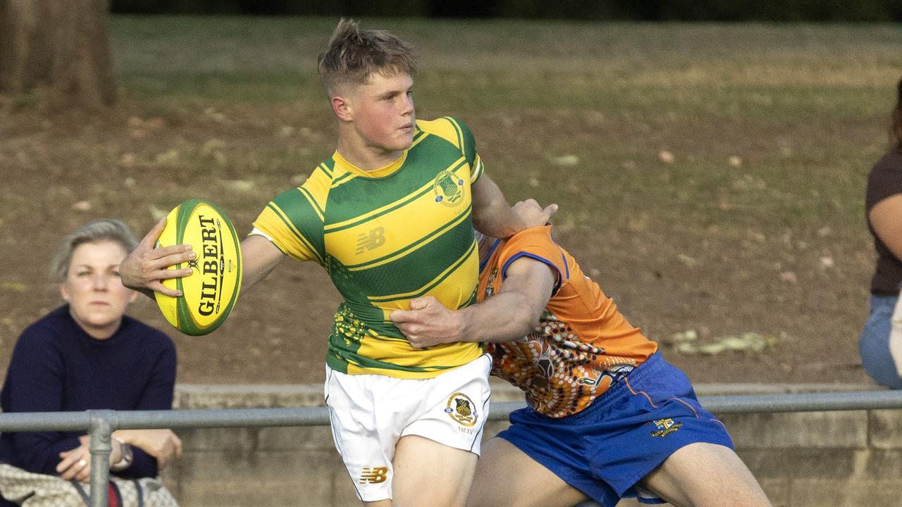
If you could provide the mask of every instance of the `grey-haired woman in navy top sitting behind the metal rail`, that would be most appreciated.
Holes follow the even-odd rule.
[[[124,315],[137,293],[119,280],[119,263],[136,244],[128,226],[109,218],[90,222],[62,241],[51,276],[65,304],[19,336],[0,392],[4,412],[172,408],[172,340]],[[149,486],[134,480],[157,477],[172,456],[181,454],[181,441],[170,429],[119,430],[113,437],[111,479],[125,478],[137,487]],[[86,488],[78,483],[89,481],[93,466],[88,440],[84,432],[73,431],[3,433],[0,493],[14,502],[31,496],[27,504],[32,505],[39,500],[35,495],[61,490],[69,492],[68,500],[36,503],[84,505],[80,493]],[[162,484],[150,487],[152,492],[142,494],[161,492],[167,499],[158,504],[175,504]],[[4,504],[18,503],[0,499]]]

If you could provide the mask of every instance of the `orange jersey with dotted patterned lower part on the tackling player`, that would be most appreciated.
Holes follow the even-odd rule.
[[[486,345],[494,359],[492,374],[520,387],[540,414],[575,414],[658,345],[630,326],[573,256],[555,244],[551,226],[529,228],[492,246],[481,266],[479,300],[498,292],[507,266],[521,256],[548,264],[558,273],[557,285],[529,336]]]

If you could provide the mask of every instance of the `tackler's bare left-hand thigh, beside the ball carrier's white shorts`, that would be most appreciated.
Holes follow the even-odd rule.
[[[587,497],[503,438],[483,445],[467,507],[573,507]]]

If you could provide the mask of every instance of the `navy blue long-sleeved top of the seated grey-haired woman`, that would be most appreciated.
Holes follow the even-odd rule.
[[[169,336],[124,317],[105,340],[78,326],[69,305],[27,327],[16,342],[0,407],[4,412],[170,410],[176,372]],[[5,432],[0,462],[56,475],[60,452],[80,445],[81,431]],[[152,477],[157,462],[133,447],[132,466],[116,475]]]

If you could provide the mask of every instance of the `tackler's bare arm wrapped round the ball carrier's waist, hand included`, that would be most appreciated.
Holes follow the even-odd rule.
[[[415,348],[454,342],[505,342],[529,335],[551,299],[557,272],[528,256],[507,267],[497,294],[463,309],[447,309],[432,296],[395,310],[391,321]]]

